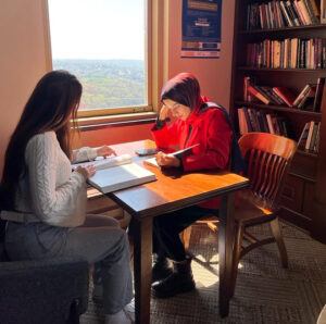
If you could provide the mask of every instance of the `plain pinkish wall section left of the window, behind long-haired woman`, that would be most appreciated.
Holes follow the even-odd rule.
[[[3,155],[27,97],[46,72],[42,0],[1,0],[0,174]]]

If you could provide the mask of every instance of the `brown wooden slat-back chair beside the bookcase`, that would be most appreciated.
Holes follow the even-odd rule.
[[[268,133],[248,133],[240,138],[239,146],[248,165],[246,176],[250,179],[250,189],[239,192],[235,199],[236,240],[231,273],[233,291],[239,260],[256,247],[276,241],[281,264],[284,267],[288,266],[277,213],[283,183],[297,147],[293,140]],[[266,222],[271,224],[273,237],[258,239],[246,230],[248,227]],[[214,229],[217,229],[216,225]],[[190,230],[191,228],[184,234],[186,239],[189,236],[189,239],[185,240],[187,248]],[[243,239],[248,242],[246,246],[242,245]]]

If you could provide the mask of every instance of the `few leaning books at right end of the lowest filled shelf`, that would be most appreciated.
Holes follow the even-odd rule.
[[[298,140],[298,148],[301,150],[317,153],[321,139],[321,122],[311,121],[306,123]]]

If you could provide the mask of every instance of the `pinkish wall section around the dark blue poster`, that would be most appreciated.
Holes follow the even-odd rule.
[[[168,77],[179,72],[192,72],[202,94],[228,109],[231,78],[235,0],[223,0],[222,51],[220,59],[180,58],[181,0],[170,0],[168,7]]]

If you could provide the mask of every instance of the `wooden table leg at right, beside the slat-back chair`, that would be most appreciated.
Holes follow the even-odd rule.
[[[218,213],[220,315],[228,315],[234,245],[234,197],[224,195]]]

